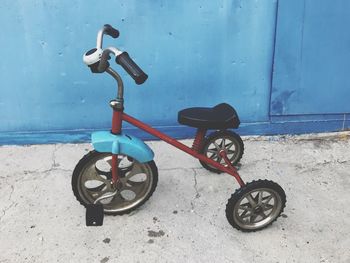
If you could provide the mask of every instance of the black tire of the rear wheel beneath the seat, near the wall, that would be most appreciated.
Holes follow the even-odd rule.
[[[209,146],[209,144],[211,144],[212,141],[216,141],[220,138],[222,138],[223,136],[230,138],[230,140],[232,140],[233,142],[235,142],[235,147],[236,147],[236,157],[234,158],[234,161],[232,162],[232,165],[237,165],[238,162],[242,159],[243,153],[244,153],[244,144],[242,141],[242,138],[235,132],[233,131],[229,131],[229,130],[222,130],[222,131],[216,131],[213,132],[211,134],[209,134],[203,141],[202,143],[202,147],[200,149],[200,152],[204,155],[206,155],[205,153],[205,149]],[[199,161],[201,163],[201,165],[207,169],[208,171],[214,172],[214,173],[222,173],[222,171],[208,165],[207,163],[203,162],[203,161]]]

